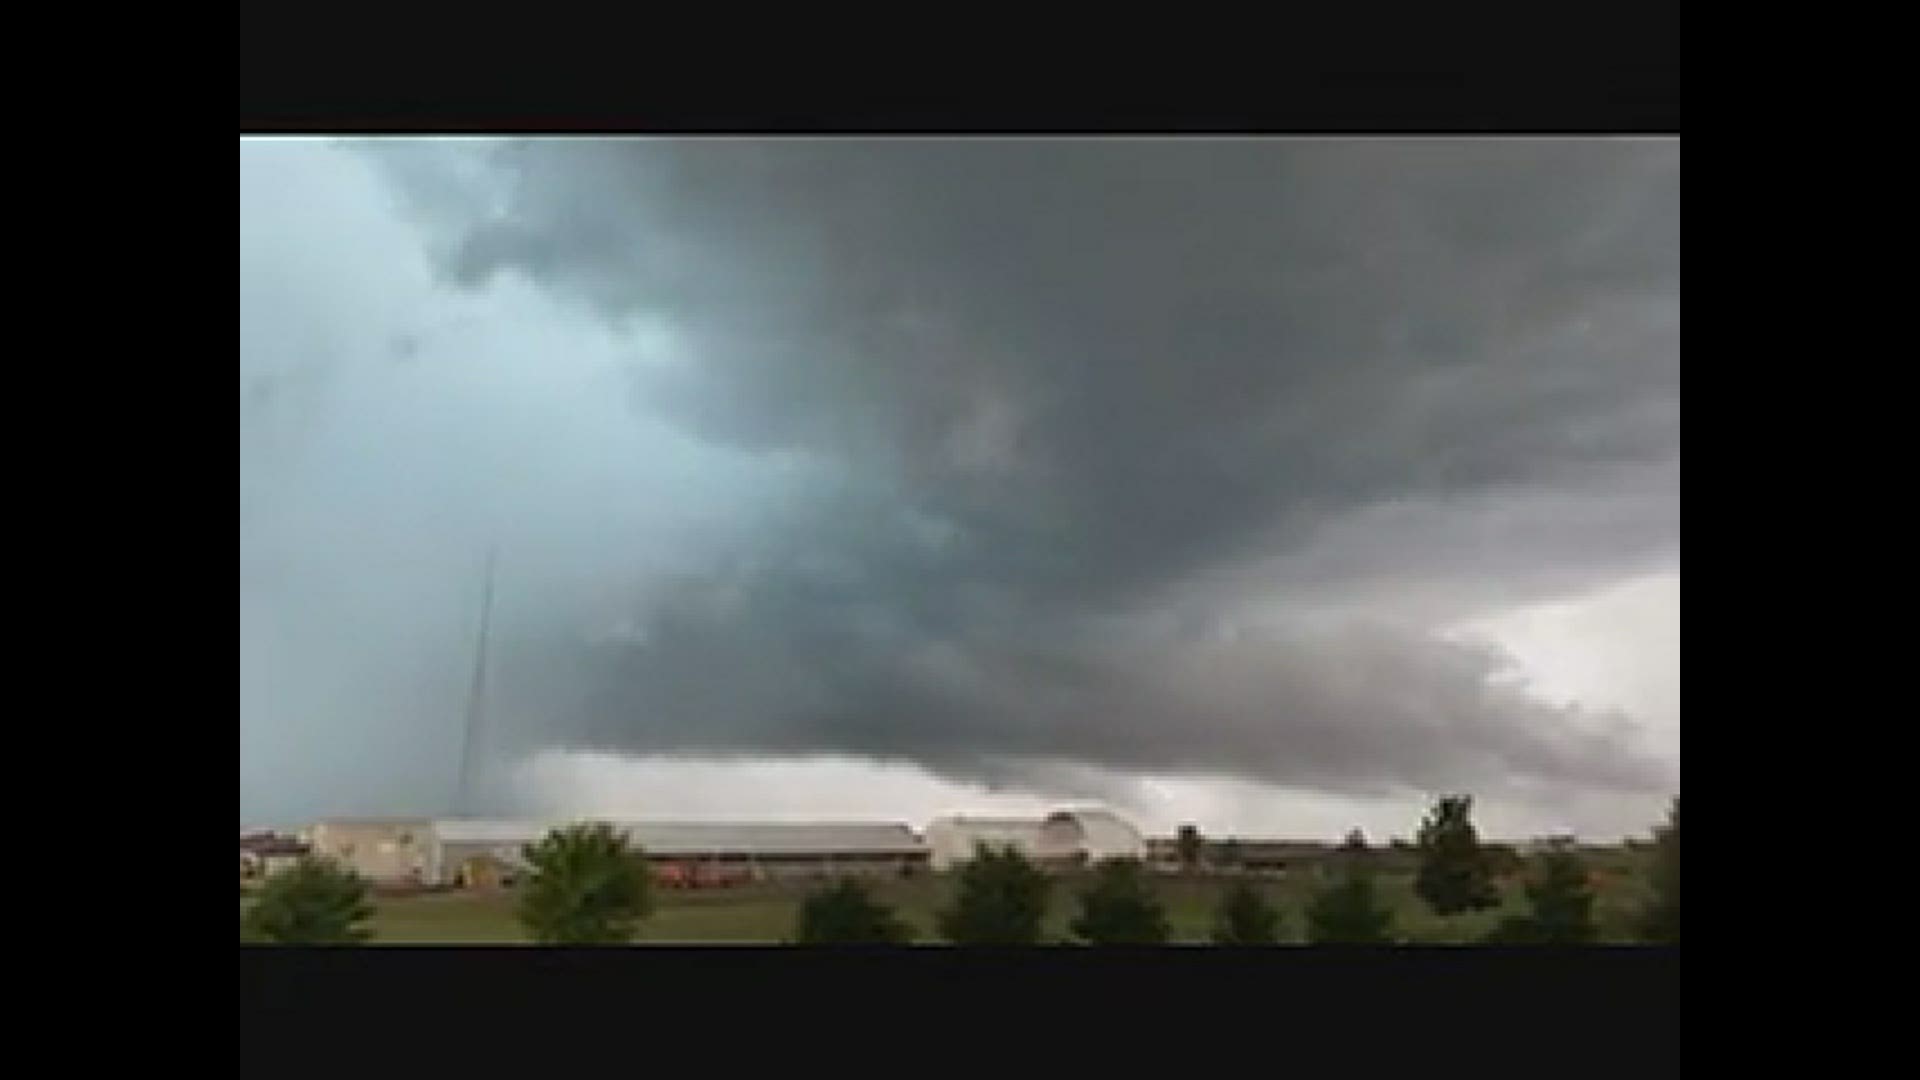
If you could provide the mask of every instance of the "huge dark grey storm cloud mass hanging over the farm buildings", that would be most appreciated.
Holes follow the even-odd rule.
[[[374,154],[449,281],[664,321],[643,411],[833,477],[632,640],[509,634],[534,742],[1661,780],[1430,630],[1674,557],[1676,144]]]

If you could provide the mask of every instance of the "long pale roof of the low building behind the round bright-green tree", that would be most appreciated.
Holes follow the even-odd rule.
[[[649,855],[910,855],[925,844],[904,824],[889,822],[712,822],[609,821]],[[436,821],[434,834],[453,844],[532,844],[553,824],[528,821]]]

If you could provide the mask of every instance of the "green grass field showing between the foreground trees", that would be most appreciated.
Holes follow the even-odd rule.
[[[1605,874],[1597,892],[1596,917],[1607,942],[1630,940],[1630,924],[1645,901],[1640,861],[1626,851],[1588,853],[1588,863]],[[1311,871],[1290,878],[1256,878],[1283,911],[1283,934],[1300,940],[1304,909],[1319,880]],[[1229,878],[1156,876],[1154,888],[1167,905],[1177,942],[1206,942],[1213,909],[1229,888]],[[804,884],[768,884],[732,890],[680,892],[655,890],[655,911],[641,926],[641,942],[774,944],[793,932]],[[1068,924],[1079,909],[1073,878],[1054,878],[1048,905],[1048,938],[1069,940]],[[1505,888],[1505,903],[1494,911],[1438,919],[1413,896],[1411,867],[1386,867],[1379,888],[1394,905],[1396,932],[1417,944],[1467,944],[1478,940],[1503,917],[1524,909],[1517,882]],[[935,913],[950,901],[952,878],[927,876],[889,880],[877,886],[922,942],[937,942]],[[380,897],[372,920],[374,944],[524,944],[513,917],[513,897],[505,894],[428,894]]]

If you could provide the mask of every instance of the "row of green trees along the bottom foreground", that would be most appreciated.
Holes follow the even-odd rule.
[[[1421,822],[1413,849],[1413,892],[1434,915],[1453,917],[1500,905],[1500,851],[1482,844],[1469,796],[1440,798]],[[1198,830],[1183,828],[1177,851],[1198,861]],[[653,911],[645,855],[605,822],[555,828],[524,847],[528,871],[518,884],[516,917],[534,942],[599,945],[632,942]],[[1384,945],[1400,940],[1394,911],[1377,890],[1365,838],[1334,851],[1334,874],[1304,909],[1304,938],[1317,945]],[[1594,890],[1574,846],[1555,846],[1526,867],[1526,909],[1501,920],[1488,944],[1590,944],[1597,940]],[[1636,936],[1680,942],[1680,799],[1653,830],[1651,901],[1638,913]],[[1043,942],[1052,880],[1010,847],[981,846],[956,878],[952,905],[935,917],[941,938],[956,945],[1033,945]],[[242,940],[278,944],[355,944],[369,938],[372,917],[367,882],[326,859],[309,857],[267,880],[242,917]],[[1271,945],[1284,940],[1286,915],[1240,880],[1213,913],[1212,940],[1221,945]],[[1069,924],[1091,945],[1156,945],[1171,938],[1165,905],[1137,859],[1092,867],[1077,890]],[[912,928],[856,878],[808,894],[797,913],[793,944],[906,944]]]

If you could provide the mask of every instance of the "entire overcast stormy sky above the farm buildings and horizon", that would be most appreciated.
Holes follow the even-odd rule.
[[[240,813],[1642,832],[1676,140],[242,140]]]

